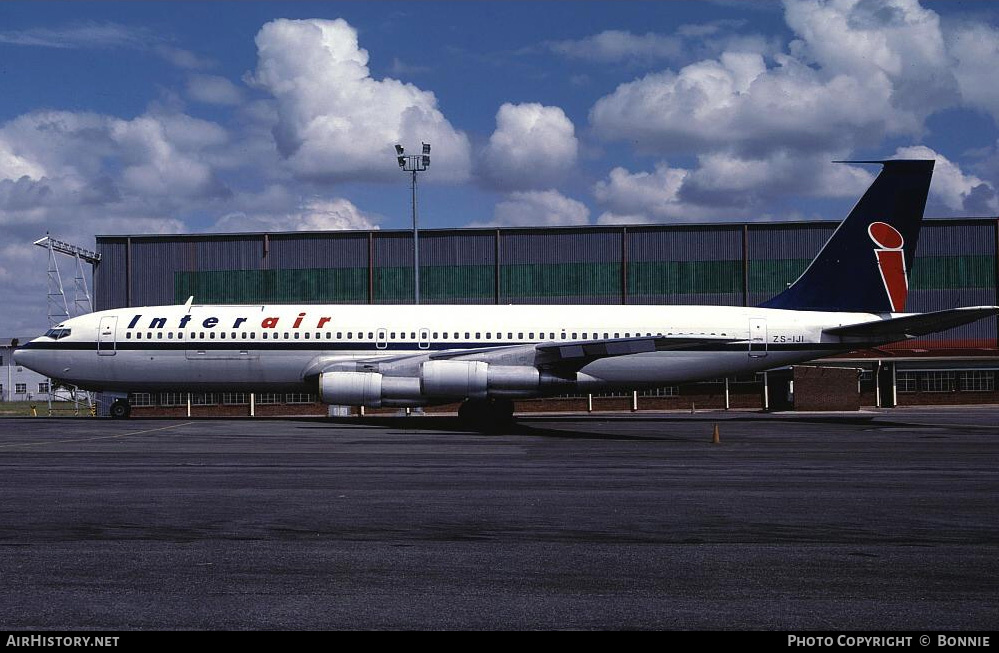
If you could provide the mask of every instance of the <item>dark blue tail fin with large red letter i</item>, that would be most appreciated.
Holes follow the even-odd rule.
[[[933,161],[880,163],[881,174],[791,287],[760,306],[899,313],[933,175]]]

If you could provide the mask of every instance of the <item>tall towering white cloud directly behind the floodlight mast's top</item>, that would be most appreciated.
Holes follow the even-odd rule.
[[[249,81],[277,100],[274,139],[301,178],[337,182],[389,179],[396,143],[433,145],[431,178],[469,176],[468,138],[412,84],[377,80],[357,31],[342,19],[275,20],[256,36],[257,70]]]

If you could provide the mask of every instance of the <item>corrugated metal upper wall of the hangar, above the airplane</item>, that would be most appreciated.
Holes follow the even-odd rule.
[[[837,224],[426,230],[422,301],[755,305],[797,279]],[[997,303],[996,239],[994,219],[926,221],[907,308]],[[409,231],[102,236],[95,304],[189,295],[199,303],[410,303],[412,243]],[[990,319],[931,338],[995,347],[996,329]]]

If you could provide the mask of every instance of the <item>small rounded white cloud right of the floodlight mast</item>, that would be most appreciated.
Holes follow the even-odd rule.
[[[572,121],[559,107],[508,103],[496,113],[478,174],[504,190],[547,188],[572,169],[578,149]]]

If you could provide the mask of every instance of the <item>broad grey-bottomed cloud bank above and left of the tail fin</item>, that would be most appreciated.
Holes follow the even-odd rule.
[[[791,57],[767,68],[756,53],[729,52],[678,73],[622,84],[590,111],[598,136],[662,153],[731,149],[814,152],[878,142],[889,128],[886,77],[821,73]],[[909,123],[909,127],[915,125]]]

